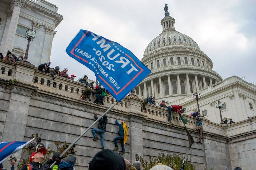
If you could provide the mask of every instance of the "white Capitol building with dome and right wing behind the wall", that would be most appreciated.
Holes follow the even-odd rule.
[[[191,113],[198,110],[193,98],[198,92],[201,114],[216,123],[220,122],[218,100],[223,103],[223,120],[242,121],[255,115],[256,86],[237,76],[223,80],[198,44],[176,31],[167,4],[164,11],[163,31],[148,44],[141,59],[152,72],[135,87],[135,93],[142,99],[153,94],[158,103],[183,105]]]

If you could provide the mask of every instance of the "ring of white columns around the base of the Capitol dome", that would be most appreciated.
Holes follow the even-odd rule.
[[[135,94],[148,97],[164,97],[174,94],[190,94],[217,83],[212,77],[199,74],[169,74],[157,78],[142,81],[135,87]]]

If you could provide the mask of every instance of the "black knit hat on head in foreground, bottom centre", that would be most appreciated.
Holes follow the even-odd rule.
[[[104,149],[93,157],[89,170],[125,170],[124,158],[111,150]]]

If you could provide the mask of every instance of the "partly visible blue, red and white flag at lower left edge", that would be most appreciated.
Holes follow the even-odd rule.
[[[28,142],[12,141],[12,142],[2,142],[0,143],[0,164],[5,161],[5,159],[12,156],[15,152],[18,152],[24,146],[29,144]]]

